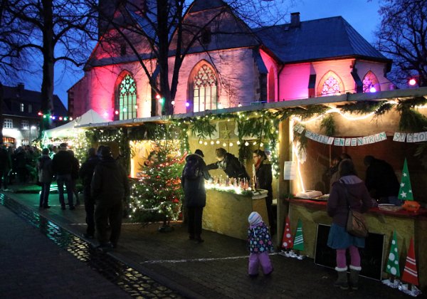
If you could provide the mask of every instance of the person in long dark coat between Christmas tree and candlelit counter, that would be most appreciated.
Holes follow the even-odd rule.
[[[186,164],[199,163],[199,177],[189,179],[184,175],[181,176],[181,186],[184,189],[184,205],[188,215],[189,238],[201,243],[204,240],[201,238],[201,219],[203,217],[203,208],[206,206],[206,190],[204,180],[211,179],[206,163],[204,162],[204,154],[201,150],[196,150],[194,154],[189,154],[185,160]]]

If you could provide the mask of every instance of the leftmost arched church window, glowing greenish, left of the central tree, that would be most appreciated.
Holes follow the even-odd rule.
[[[137,117],[137,84],[130,75],[125,75],[119,85],[119,119],[130,120]]]

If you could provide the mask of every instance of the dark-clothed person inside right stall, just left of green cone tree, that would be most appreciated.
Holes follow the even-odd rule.
[[[401,201],[398,199],[400,184],[393,167],[373,156],[364,157],[363,162],[367,166],[365,184],[371,196],[381,204],[400,206]]]

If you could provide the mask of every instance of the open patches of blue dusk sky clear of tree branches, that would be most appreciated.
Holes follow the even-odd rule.
[[[378,0],[299,0],[294,2],[295,5],[290,6],[288,11],[289,13],[299,11],[301,21],[342,16],[369,43],[373,43],[375,40],[373,31],[379,25]],[[289,21],[290,16],[288,16],[286,23]],[[54,93],[67,107],[67,90],[83,77],[83,71],[63,73],[59,68],[56,68],[55,77]],[[24,82],[26,89],[41,90],[41,72],[32,77],[26,76]]]

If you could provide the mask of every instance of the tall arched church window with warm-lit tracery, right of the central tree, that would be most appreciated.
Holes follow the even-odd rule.
[[[217,109],[216,84],[214,70],[206,64],[201,65],[194,75],[194,112]]]

